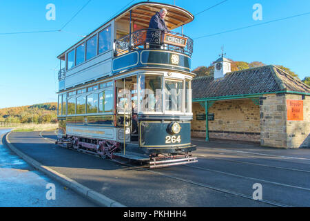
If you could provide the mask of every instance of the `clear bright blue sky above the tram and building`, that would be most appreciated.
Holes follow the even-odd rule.
[[[130,0],[92,0],[85,6],[88,1],[0,0],[0,108],[56,102],[59,70],[56,56],[130,3]],[[196,15],[222,1],[158,2],[172,5],[175,2],[176,6]],[[138,2],[133,1],[130,5]],[[55,6],[55,20],[45,17],[49,3]],[[262,20],[253,18],[256,3],[262,6]],[[85,8],[81,10],[83,6]],[[196,15],[194,21],[184,27],[185,35],[194,39],[192,69],[209,66],[218,59],[224,46],[229,59],[286,66],[304,79],[310,76],[310,14],[220,35],[212,34],[308,12],[309,0],[227,0],[220,3]],[[63,26],[61,32],[8,34],[59,30]],[[212,36],[203,37],[206,35]]]

